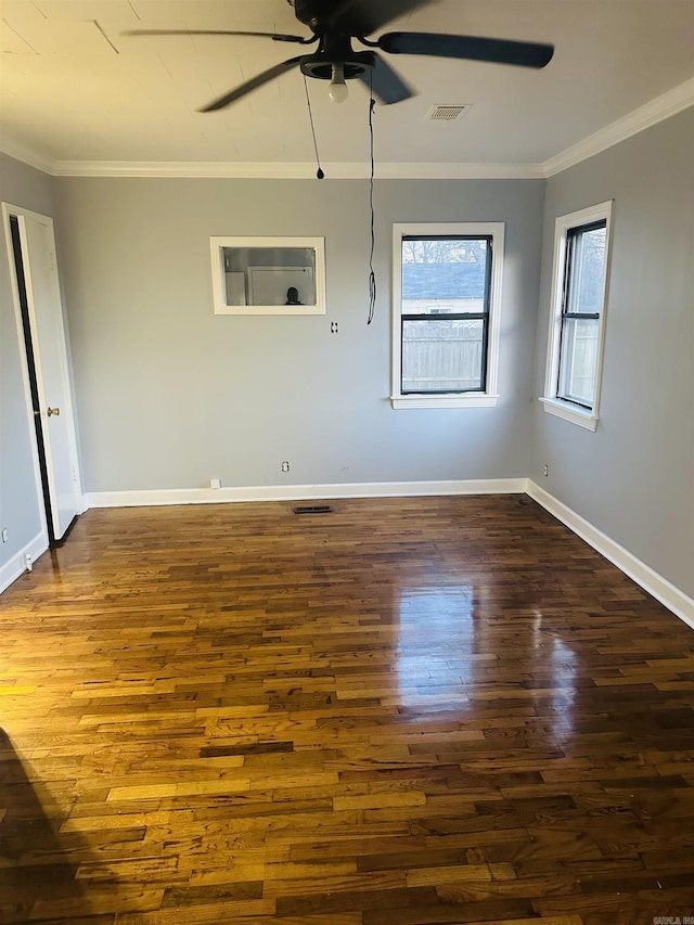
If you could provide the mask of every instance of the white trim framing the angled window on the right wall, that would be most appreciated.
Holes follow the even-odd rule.
[[[607,293],[609,291],[609,265],[612,241],[613,200],[597,203],[589,208],[560,216],[554,223],[554,259],[552,264],[552,301],[550,311],[550,332],[548,337],[547,369],[544,374],[544,394],[540,397],[542,407],[549,414],[577,424],[588,431],[596,431],[600,420],[600,395],[603,377],[603,352],[605,343],[605,321],[607,317]],[[566,268],[566,239],[573,228],[605,220],[605,278],[603,305],[600,313],[597,333],[597,362],[595,368],[595,398],[593,407],[583,409],[571,401],[558,398],[556,394],[560,369],[560,342],[562,335],[562,300],[564,296],[564,271]]]

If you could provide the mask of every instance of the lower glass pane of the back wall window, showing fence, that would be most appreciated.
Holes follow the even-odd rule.
[[[481,319],[403,319],[402,391],[481,389],[484,337]]]

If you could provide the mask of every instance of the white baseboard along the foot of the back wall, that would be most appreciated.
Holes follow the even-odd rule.
[[[175,488],[152,491],[90,491],[89,508],[160,504],[222,504],[233,501],[309,501],[337,498],[404,498],[426,494],[523,494],[527,478],[453,481],[371,481],[336,485],[269,485],[244,488]]]

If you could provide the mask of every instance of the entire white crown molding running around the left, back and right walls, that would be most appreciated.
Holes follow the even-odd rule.
[[[620,141],[694,105],[694,78],[656,97],[617,121],[600,129],[541,164],[455,164],[386,162],[376,164],[378,180],[542,180],[562,172]],[[159,179],[313,180],[313,162],[206,160],[56,160],[3,136],[0,151],[52,177],[140,177]],[[330,180],[363,180],[370,165],[361,162],[323,164]]]

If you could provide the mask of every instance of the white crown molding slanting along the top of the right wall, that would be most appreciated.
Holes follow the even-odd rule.
[[[626,141],[651,126],[657,125],[671,116],[677,115],[689,106],[694,105],[694,78],[685,80],[667,93],[656,97],[655,100],[639,106],[638,110],[624,116],[612,125],[605,126],[600,131],[588,136],[582,141],[573,144],[561,154],[550,157],[542,164],[542,175],[553,177],[568,167],[587,160],[601,151],[606,151],[620,141]]]

